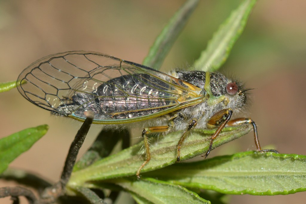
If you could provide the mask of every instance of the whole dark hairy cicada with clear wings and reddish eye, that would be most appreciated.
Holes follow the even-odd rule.
[[[247,101],[241,84],[218,72],[178,71],[169,74],[150,67],[96,52],[72,51],[44,57],[18,77],[19,92],[35,105],[84,121],[84,112],[94,113],[96,124],[105,128],[131,128],[139,123],[150,161],[147,135],[181,131],[181,146],[193,128],[216,128],[214,139],[225,125],[252,124],[257,151],[262,150],[256,124],[250,118],[231,120]],[[138,126],[138,125],[137,125]]]

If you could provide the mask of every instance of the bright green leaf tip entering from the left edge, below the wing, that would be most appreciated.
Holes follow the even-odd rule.
[[[48,125],[27,128],[20,132],[0,139],[0,173],[2,173],[15,158],[27,151],[48,130]]]

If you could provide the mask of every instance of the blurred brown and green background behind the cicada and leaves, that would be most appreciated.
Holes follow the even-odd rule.
[[[58,52],[88,50],[141,63],[155,37],[184,1],[0,1],[0,82],[16,80],[37,59]],[[201,1],[175,43],[162,70],[185,66],[199,57],[219,25],[241,1]],[[306,154],[306,2],[259,0],[237,41],[224,73],[252,90],[246,116],[258,124],[263,147]],[[56,181],[80,123],[50,116],[26,101],[17,89],[0,96],[0,137],[49,124],[47,135],[10,166]],[[99,126],[89,132],[82,152]],[[139,131],[140,132],[140,131]],[[134,141],[134,140],[133,140]],[[212,151],[255,150],[252,133]],[[0,183],[2,186],[3,183]],[[302,203],[306,193],[288,196],[234,195],[230,203]],[[0,200],[9,202],[9,200]]]

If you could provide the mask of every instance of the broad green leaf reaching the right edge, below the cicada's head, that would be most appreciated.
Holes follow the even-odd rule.
[[[287,195],[306,190],[306,156],[248,151],[175,164],[143,176],[226,194]]]

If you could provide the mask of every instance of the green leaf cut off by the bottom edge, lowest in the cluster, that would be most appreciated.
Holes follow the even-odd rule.
[[[139,197],[139,199],[142,201],[141,203],[210,204],[209,201],[204,200],[196,193],[188,191],[184,187],[152,178],[141,179],[139,181],[133,181],[128,179],[120,179],[113,181],[117,185],[123,187],[126,191],[132,192],[134,195]]]

